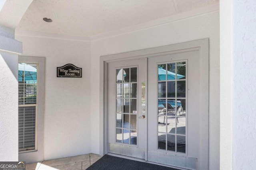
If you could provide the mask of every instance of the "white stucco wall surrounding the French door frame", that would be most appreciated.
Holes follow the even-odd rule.
[[[158,20],[155,21],[156,25]],[[117,31],[118,33],[118,31]],[[92,41],[91,44],[91,152],[99,153],[99,63],[100,56],[139,49],[170,45],[196,39],[210,39],[210,92],[209,92],[209,167],[219,169],[220,98],[219,98],[219,12],[210,12],[170,23],[113,35]]]

